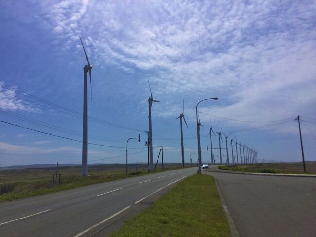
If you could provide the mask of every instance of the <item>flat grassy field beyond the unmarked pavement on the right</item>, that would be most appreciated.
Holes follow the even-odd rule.
[[[316,174],[316,161],[305,162],[306,174]],[[258,164],[238,164],[231,166],[219,166],[219,169],[259,172],[259,173],[279,173],[279,174],[304,174],[302,162],[294,163],[258,163]]]

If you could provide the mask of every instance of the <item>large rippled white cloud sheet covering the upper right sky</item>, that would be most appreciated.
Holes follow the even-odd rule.
[[[50,7],[44,10],[51,27],[67,45],[79,48],[82,33],[98,64],[150,71],[165,101],[211,91],[226,98],[212,113],[243,118],[247,111],[248,119],[270,120],[316,103],[313,1],[63,1]],[[174,110],[165,103],[158,111],[173,116]]]

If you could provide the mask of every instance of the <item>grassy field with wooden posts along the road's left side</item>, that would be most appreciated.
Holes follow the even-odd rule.
[[[188,166],[189,167],[189,166]],[[165,164],[165,170],[181,168],[180,164]],[[156,171],[162,171],[157,165]],[[55,185],[53,187],[53,178]],[[141,164],[138,168],[130,168],[126,175],[124,164],[105,164],[88,166],[88,176],[81,177],[81,166],[58,167],[58,176],[61,174],[61,184],[56,180],[56,168],[28,168],[0,171],[0,202],[18,198],[25,198],[40,194],[58,192],[70,188],[90,184],[108,182],[132,176],[145,175],[147,165]]]

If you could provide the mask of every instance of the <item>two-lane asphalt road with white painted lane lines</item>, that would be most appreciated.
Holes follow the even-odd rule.
[[[2,237],[73,237],[87,235],[113,215],[163,187],[196,173],[195,168],[100,183],[0,203]],[[86,232],[85,232],[86,231]],[[85,233],[84,233],[85,232]]]

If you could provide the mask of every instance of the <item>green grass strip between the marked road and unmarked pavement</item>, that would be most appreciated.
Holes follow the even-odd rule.
[[[125,221],[111,237],[228,237],[230,228],[209,175],[178,183],[151,207]]]

